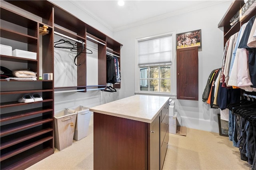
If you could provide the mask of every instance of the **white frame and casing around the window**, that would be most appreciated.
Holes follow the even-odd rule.
[[[138,65],[138,43],[142,40],[152,39],[159,36],[167,36],[172,35],[172,63],[164,63],[164,65],[170,65],[171,69],[171,90],[170,93],[166,92],[154,92],[154,91],[141,91],[140,90],[140,67],[148,67],[148,66],[160,66],[163,64],[148,64],[148,65]],[[175,31],[166,32],[162,34],[150,35],[142,38],[135,39],[135,94],[141,95],[160,95],[160,96],[168,96],[172,99],[176,98],[176,36]],[[150,79],[150,78],[148,78]],[[160,80],[160,77],[158,78]],[[160,83],[160,82],[159,82]]]

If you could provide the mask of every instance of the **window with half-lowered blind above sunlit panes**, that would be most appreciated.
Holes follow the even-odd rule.
[[[172,34],[138,40],[138,91],[171,93]]]

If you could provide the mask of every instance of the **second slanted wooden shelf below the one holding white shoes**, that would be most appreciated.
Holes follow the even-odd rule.
[[[36,117],[36,118],[28,119],[25,121],[20,121],[20,122],[8,124],[8,125],[3,125],[3,126],[1,126],[0,136],[2,137],[4,135],[18,132],[19,130],[24,130],[26,128],[31,128],[36,125],[41,125],[43,123],[48,123],[51,121],[53,121],[53,119],[50,119],[50,118],[42,119],[41,117]],[[2,159],[2,157],[1,157],[1,159]]]

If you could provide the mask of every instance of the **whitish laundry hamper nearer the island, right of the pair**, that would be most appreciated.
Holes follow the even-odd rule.
[[[68,108],[70,111],[76,111],[76,127],[74,132],[74,140],[80,140],[88,135],[89,123],[91,118],[91,111],[89,107],[78,106]]]

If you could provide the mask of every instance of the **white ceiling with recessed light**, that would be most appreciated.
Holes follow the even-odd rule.
[[[70,0],[112,32],[198,10],[227,0]]]

